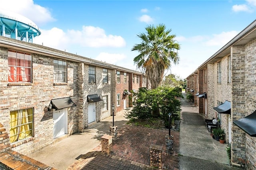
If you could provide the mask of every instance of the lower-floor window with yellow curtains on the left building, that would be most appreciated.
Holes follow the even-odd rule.
[[[33,108],[10,112],[10,143],[33,136]]]

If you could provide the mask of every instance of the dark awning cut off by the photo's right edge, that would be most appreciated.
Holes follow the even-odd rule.
[[[233,123],[250,136],[256,137],[256,111],[242,119],[233,121]]]

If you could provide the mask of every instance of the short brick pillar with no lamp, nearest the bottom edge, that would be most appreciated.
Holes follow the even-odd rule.
[[[162,168],[162,146],[150,145],[150,166]]]

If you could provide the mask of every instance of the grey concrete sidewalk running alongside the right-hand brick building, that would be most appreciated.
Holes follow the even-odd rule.
[[[210,136],[204,123],[204,115],[198,107],[181,99],[180,125],[180,170],[233,170],[229,165],[226,144],[221,144]]]

